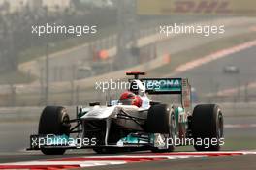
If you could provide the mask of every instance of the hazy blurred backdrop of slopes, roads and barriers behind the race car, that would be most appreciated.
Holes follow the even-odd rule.
[[[218,103],[229,125],[254,127],[240,132],[243,143],[231,130],[229,147],[255,147],[255,5],[252,0],[0,0],[0,134],[12,138],[13,122],[36,126],[45,105],[74,112],[75,105],[118,99],[123,90],[103,93],[95,83],[146,71],[148,77],[189,78],[194,102]],[[97,33],[32,34],[33,25],[46,23],[96,25]],[[175,23],[224,25],[225,33],[160,34],[160,25]],[[16,123],[16,129],[26,135],[36,130],[26,125]]]

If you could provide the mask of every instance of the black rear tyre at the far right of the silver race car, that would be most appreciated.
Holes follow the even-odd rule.
[[[223,116],[218,105],[196,106],[192,115],[191,129],[195,141],[194,148],[197,151],[219,151],[224,144]]]

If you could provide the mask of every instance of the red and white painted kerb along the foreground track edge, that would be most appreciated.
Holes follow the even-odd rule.
[[[37,161],[2,163],[0,169],[75,169],[83,167],[112,166],[160,160],[189,158],[256,155],[254,151],[236,152],[174,152],[174,153],[134,153],[129,155],[80,156]]]

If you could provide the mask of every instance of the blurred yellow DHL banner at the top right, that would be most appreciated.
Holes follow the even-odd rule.
[[[138,14],[256,14],[251,0],[137,0]]]

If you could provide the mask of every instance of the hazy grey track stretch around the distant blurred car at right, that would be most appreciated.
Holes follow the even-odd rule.
[[[208,94],[238,87],[256,81],[256,47],[251,47],[228,57],[212,61],[201,67],[186,71],[177,76],[187,77],[200,94]],[[225,66],[236,66],[239,74],[223,73]]]

